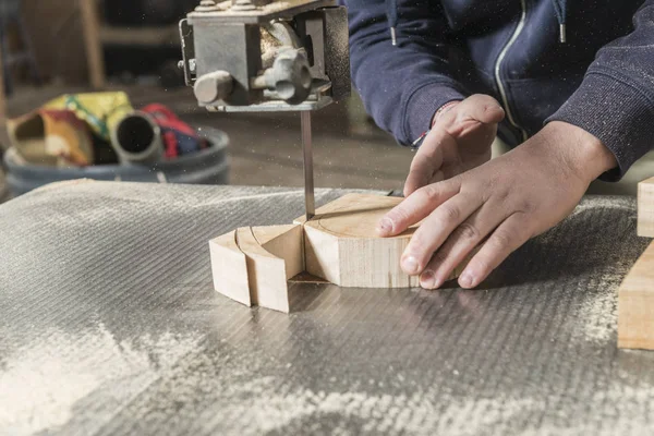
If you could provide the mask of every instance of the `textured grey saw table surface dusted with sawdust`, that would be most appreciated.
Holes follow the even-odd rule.
[[[290,316],[215,293],[207,240],[302,199],[88,183],[0,206],[0,434],[651,434],[654,353],[616,349],[632,199],[584,201],[480,290],[314,284]]]

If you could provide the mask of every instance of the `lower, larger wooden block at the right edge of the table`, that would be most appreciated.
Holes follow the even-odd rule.
[[[618,290],[618,348],[654,350],[654,242]]]

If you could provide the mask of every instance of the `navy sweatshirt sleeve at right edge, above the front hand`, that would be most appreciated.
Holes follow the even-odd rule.
[[[633,32],[604,46],[583,82],[549,121],[565,121],[600,138],[618,168],[602,175],[619,180],[654,146],[654,0],[633,16]]]

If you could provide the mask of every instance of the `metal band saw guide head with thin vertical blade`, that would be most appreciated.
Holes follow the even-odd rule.
[[[350,95],[348,15],[334,0],[202,0],[180,22],[186,85],[218,112],[298,111],[307,218],[311,112]]]

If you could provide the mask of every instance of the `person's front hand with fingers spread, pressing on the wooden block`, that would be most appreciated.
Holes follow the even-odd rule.
[[[600,140],[565,122],[548,123],[516,149],[415,191],[377,231],[401,233],[421,221],[401,258],[404,272],[435,289],[480,244],[461,276],[474,288],[511,252],[567,217],[591,181],[617,166]]]

